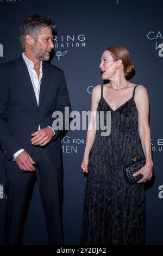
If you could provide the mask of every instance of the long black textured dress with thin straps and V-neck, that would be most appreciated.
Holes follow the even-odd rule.
[[[96,131],[90,152],[85,188],[82,245],[143,245],[145,243],[145,190],[129,184],[123,166],[144,157],[133,96],[115,111],[103,97],[97,111],[111,111],[108,137]]]

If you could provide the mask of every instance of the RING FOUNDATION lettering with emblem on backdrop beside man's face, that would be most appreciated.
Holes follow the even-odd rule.
[[[65,56],[70,48],[84,48],[85,47],[85,34],[71,34],[71,35],[54,35],[53,43],[58,60]]]

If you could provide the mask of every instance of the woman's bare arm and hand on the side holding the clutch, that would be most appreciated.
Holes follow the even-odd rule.
[[[135,91],[135,102],[138,112],[139,136],[146,157],[146,165],[142,167],[136,175],[142,174],[143,178],[137,183],[146,182],[152,178],[152,151],[151,151],[151,132],[149,128],[149,100],[147,90],[143,86],[139,86]],[[133,175],[133,176],[136,176]]]

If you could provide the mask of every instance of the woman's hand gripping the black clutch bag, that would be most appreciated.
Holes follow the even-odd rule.
[[[138,172],[134,173],[133,176],[137,176],[138,174],[142,174],[143,178],[137,181],[137,183],[146,182],[147,180],[151,180],[152,178],[152,169],[153,164],[145,164]]]

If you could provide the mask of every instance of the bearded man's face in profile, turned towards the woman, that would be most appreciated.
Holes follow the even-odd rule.
[[[52,29],[48,27],[42,28],[41,34],[37,37],[32,47],[34,57],[40,61],[49,60],[49,55],[53,48]]]

